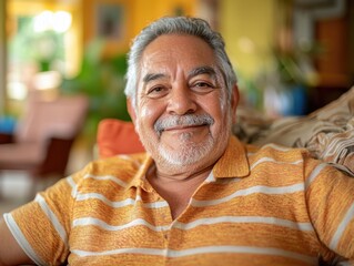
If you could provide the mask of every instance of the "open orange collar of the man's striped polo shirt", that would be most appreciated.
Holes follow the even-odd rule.
[[[133,180],[128,184],[128,188],[135,186],[142,187],[146,192],[152,192],[153,188],[146,181],[145,175],[153,164],[153,158],[146,153],[145,160]],[[219,158],[213,167],[213,175],[216,178],[224,178],[246,177],[249,174],[250,165],[245,147],[235,136],[231,136],[225,153]]]

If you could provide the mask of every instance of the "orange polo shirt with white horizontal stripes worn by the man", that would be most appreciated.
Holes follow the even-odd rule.
[[[305,150],[231,137],[174,221],[145,154],[89,164],[4,215],[38,265],[317,265],[354,260],[354,178]]]

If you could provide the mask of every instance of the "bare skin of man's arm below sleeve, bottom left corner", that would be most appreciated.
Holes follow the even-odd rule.
[[[0,218],[0,266],[33,264],[26,255],[9,231],[3,218]]]

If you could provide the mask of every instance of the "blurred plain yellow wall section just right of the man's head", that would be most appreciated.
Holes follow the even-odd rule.
[[[223,0],[220,31],[239,74],[251,78],[270,64],[276,0]]]

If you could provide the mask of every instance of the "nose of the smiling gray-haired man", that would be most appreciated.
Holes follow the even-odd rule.
[[[168,110],[170,114],[183,115],[196,111],[193,92],[188,85],[172,88],[169,96]]]

